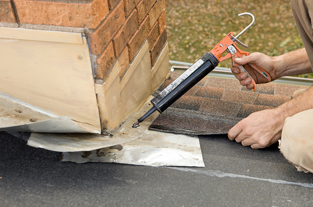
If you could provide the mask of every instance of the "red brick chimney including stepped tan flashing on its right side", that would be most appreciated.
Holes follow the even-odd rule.
[[[0,0],[0,27],[86,37],[103,132],[114,133],[168,75],[165,0]]]

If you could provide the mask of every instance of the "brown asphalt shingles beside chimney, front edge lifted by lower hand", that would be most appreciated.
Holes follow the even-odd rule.
[[[172,78],[166,80],[153,95],[160,93],[180,73],[170,74]],[[276,85],[260,84],[256,92],[251,92],[238,80],[206,78],[201,88],[201,84],[195,85],[189,93],[159,114],[149,129],[183,134],[227,134],[229,129],[251,113],[274,109],[288,101],[297,88]],[[274,95],[274,92],[286,95]]]

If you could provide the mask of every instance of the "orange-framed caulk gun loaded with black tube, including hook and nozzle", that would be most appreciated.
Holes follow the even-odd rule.
[[[234,58],[242,58],[249,53],[241,51],[235,43],[238,43],[240,46],[244,48],[250,48],[249,46],[241,43],[237,38],[244,33],[247,29],[249,29],[254,24],[254,16],[251,13],[245,12],[238,14],[238,16],[249,15],[252,17],[252,22],[244,28],[236,37],[233,36],[233,32],[230,32],[226,37],[224,37],[219,43],[217,43],[214,48],[210,52],[206,52],[203,56],[195,63],[192,64],[184,73],[182,73],[177,79],[175,79],[169,86],[167,86],[161,93],[159,93],[156,97],[151,99],[151,103],[153,107],[146,112],[138,122],[133,124],[133,128],[137,128],[140,122],[145,120],[148,116],[150,116],[153,112],[158,110],[161,114],[167,109],[172,103],[174,103],[178,98],[180,98],[183,94],[185,94],[190,88],[196,85],[202,78],[204,78],[208,73],[210,73],[214,68],[218,66],[219,62],[226,60],[227,58],[231,58],[232,66],[235,68],[239,68],[240,72],[245,72],[248,74],[248,77],[251,78],[254,91],[256,88],[255,81],[249,75],[249,73],[244,69],[242,65],[239,65],[234,62]],[[222,57],[222,54],[227,51],[227,55]],[[269,74],[264,71],[262,68],[249,64],[250,67],[254,68],[256,71],[261,73],[268,81],[271,81]]]

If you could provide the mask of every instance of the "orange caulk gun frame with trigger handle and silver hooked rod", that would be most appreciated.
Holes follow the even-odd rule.
[[[246,27],[241,33],[239,33],[236,37],[233,36],[233,32],[229,33],[226,37],[224,37],[219,43],[217,43],[214,48],[210,51],[214,55],[214,57],[218,60],[218,62],[222,62],[223,60],[226,60],[227,58],[232,59],[232,66],[234,68],[238,68],[240,72],[245,72],[248,74],[248,78],[251,78],[251,83],[254,85],[253,91],[255,91],[256,85],[254,79],[250,76],[250,74],[244,69],[242,65],[239,65],[234,62],[235,58],[242,58],[245,56],[248,56],[250,53],[244,52],[240,50],[235,43],[238,43],[239,45],[243,46],[244,48],[249,48],[249,46],[241,43],[237,37],[239,37],[242,33],[244,33],[253,23],[254,23],[254,16],[250,13],[241,13],[238,16],[242,15],[249,15],[252,17],[253,21],[252,23]],[[227,55],[222,57],[222,54],[227,51]],[[269,73],[264,71],[262,68],[258,67],[255,64],[249,64],[251,68],[254,68],[256,71],[258,71],[260,74],[262,74],[267,80],[270,82],[271,77],[269,76]]]

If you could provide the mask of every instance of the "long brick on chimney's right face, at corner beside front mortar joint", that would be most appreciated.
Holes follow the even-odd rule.
[[[89,34],[91,53],[99,55],[125,22],[124,3],[117,4],[95,32]]]

